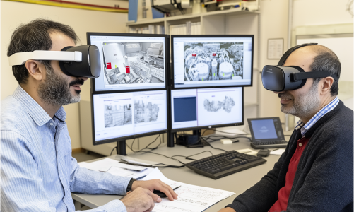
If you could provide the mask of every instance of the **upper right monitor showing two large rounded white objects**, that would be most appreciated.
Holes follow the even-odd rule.
[[[252,86],[254,35],[171,35],[172,88]]]

